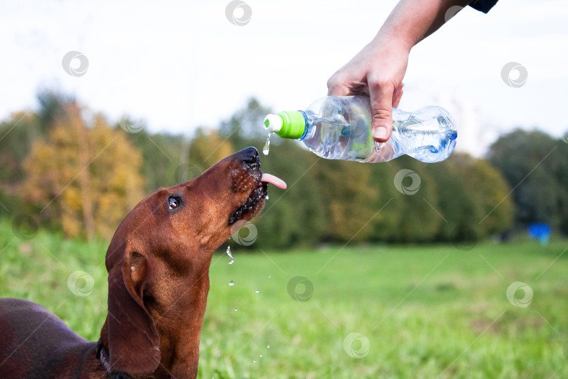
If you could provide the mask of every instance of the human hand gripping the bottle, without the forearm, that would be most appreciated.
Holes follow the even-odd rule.
[[[386,142],[393,132],[393,107],[403,96],[410,44],[377,36],[327,80],[327,95],[368,95],[373,139]]]

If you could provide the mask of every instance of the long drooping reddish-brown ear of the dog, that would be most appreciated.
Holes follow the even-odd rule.
[[[160,338],[143,302],[148,262],[125,253],[109,271],[109,355],[111,372],[151,373],[160,363]]]

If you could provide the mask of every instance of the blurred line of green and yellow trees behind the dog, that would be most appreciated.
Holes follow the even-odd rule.
[[[67,237],[109,238],[156,188],[191,180],[238,149],[262,150],[269,112],[250,99],[217,128],[188,138],[148,133],[142,121],[112,124],[73,98],[42,94],[38,110],[0,124],[0,217],[25,214]],[[272,138],[262,169],[288,189],[269,189],[248,230],[251,245],[449,241],[467,248],[530,222],[568,233],[567,150],[546,133],[519,130],[501,136],[488,159],[454,152],[437,164],[410,157],[360,164]]]

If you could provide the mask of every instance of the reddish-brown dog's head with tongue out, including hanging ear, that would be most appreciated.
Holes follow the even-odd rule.
[[[154,371],[161,355],[160,320],[188,317],[175,311],[187,301],[203,302],[197,312],[205,310],[208,288],[201,286],[208,287],[212,253],[230,237],[236,222],[262,210],[268,183],[285,187],[262,173],[257,149],[248,147],[190,182],[158,189],[121,222],[106,258],[113,371]],[[201,298],[188,300],[194,293]],[[132,347],[134,356],[127,354]]]

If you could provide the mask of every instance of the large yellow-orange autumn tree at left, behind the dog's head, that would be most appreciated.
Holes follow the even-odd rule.
[[[68,237],[111,237],[144,194],[142,157],[100,114],[86,126],[76,102],[62,105],[45,139],[32,145],[24,163],[22,194]]]

